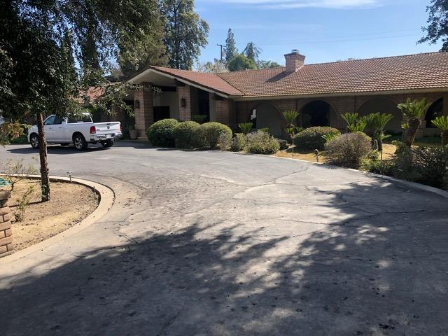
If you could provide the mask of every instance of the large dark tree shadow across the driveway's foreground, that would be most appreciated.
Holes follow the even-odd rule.
[[[314,191],[350,219],[305,237],[197,222],[91,251],[1,290],[3,332],[447,335],[446,200],[384,184]]]

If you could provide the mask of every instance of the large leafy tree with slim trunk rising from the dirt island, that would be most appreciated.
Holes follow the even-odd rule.
[[[3,1],[0,113],[38,121],[43,201],[50,200],[43,116],[78,113],[78,99],[86,97],[80,92],[90,85],[102,92],[90,104],[104,109],[114,102],[126,109],[123,85],[111,85],[103,75],[119,46],[151,34],[145,23],[151,15],[151,1],[143,0]]]

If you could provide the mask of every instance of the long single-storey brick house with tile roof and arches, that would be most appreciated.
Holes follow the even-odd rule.
[[[194,115],[233,130],[238,123],[252,122],[285,137],[281,112],[290,109],[300,112],[297,124],[302,127],[341,130],[346,127],[342,113],[391,113],[388,131],[400,132],[397,105],[407,97],[431,103],[420,135],[437,133],[430,120],[448,115],[448,52],[305,64],[305,56],[293,50],[285,59],[285,67],[218,74],[150,66],[130,79],[160,89],[130,92],[139,137],[157,120],[191,120]]]

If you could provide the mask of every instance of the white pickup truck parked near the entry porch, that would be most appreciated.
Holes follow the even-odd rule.
[[[120,122],[94,123],[90,113],[68,118],[49,116],[43,121],[43,130],[48,144],[67,146],[73,143],[78,151],[87,148],[88,144],[111,147],[116,139],[123,137]],[[37,134],[36,125],[28,130],[28,142],[33,148],[39,146]]]

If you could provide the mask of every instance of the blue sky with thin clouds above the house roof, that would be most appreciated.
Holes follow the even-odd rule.
[[[306,63],[430,52],[440,45],[419,44],[430,0],[196,0],[210,25],[201,61],[219,57],[232,28],[239,51],[253,41],[260,59],[284,64],[299,49]]]

